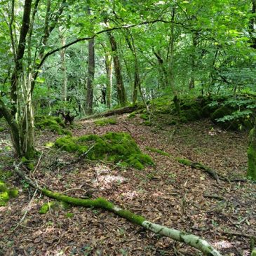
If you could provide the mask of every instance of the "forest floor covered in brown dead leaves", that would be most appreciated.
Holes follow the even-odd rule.
[[[256,236],[256,185],[249,181],[217,184],[202,170],[145,149],[154,147],[201,162],[227,177],[243,177],[247,134],[227,132],[208,119],[179,126],[144,126],[139,117],[127,117],[119,116],[116,125],[102,127],[91,119],[78,121],[72,133],[130,133],[154,159],[155,167],[124,169],[86,159],[69,164],[74,154],[45,146],[60,135],[40,131],[36,149],[43,154],[30,175],[53,191],[77,197],[88,196],[89,191],[92,198],[105,197],[151,222],[202,236],[223,255],[250,255],[250,236]],[[8,130],[0,133],[0,149],[3,176],[13,170],[15,161]],[[105,210],[57,208],[40,215],[39,208],[48,198],[34,194],[16,175],[7,176],[6,183],[18,187],[20,194],[0,207],[0,255],[201,255]]]

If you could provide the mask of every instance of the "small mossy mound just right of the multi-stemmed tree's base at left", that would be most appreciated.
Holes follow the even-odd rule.
[[[71,132],[65,129],[65,123],[62,119],[56,116],[36,116],[35,126],[41,130],[48,129],[60,135],[71,135]]]

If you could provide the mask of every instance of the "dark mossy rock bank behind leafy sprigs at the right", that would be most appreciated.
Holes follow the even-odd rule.
[[[252,128],[252,110],[255,99],[248,95],[214,95],[210,97],[182,97],[179,99],[180,113],[177,109],[173,114],[179,116],[182,123],[210,118],[222,128],[231,130],[250,130]]]

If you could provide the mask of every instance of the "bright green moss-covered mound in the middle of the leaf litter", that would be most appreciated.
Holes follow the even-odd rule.
[[[86,156],[91,160],[102,159],[140,170],[144,165],[154,165],[151,157],[142,154],[135,140],[128,133],[60,137],[56,140],[55,146],[79,154],[87,152]]]

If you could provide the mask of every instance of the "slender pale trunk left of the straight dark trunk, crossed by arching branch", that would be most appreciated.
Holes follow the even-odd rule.
[[[65,36],[62,34],[62,30],[59,28],[61,45],[65,46]],[[67,101],[67,67],[66,67],[66,50],[60,50],[60,61],[62,71],[62,100]]]

